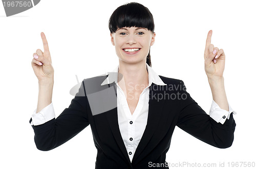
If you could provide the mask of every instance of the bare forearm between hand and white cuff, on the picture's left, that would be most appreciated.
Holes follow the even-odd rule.
[[[51,104],[52,91],[53,91],[53,80],[49,81],[48,83],[38,82],[38,85],[39,85],[39,92],[38,92],[36,113],[39,112],[44,107],[46,107],[47,105]]]

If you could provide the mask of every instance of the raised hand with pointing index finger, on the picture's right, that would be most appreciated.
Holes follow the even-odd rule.
[[[225,67],[225,53],[223,49],[211,44],[211,35],[212,31],[210,30],[204,50],[204,70],[208,78],[220,78],[223,76]]]

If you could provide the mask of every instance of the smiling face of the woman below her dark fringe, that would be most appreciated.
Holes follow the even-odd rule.
[[[111,34],[111,42],[122,62],[146,62],[147,54],[155,42],[155,33],[142,27],[122,27]]]

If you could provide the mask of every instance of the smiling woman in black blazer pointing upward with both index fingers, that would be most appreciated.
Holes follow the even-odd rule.
[[[119,59],[113,72],[118,75],[84,79],[70,106],[56,119],[51,101],[54,70],[41,33],[44,52],[37,49],[32,60],[38,103],[30,120],[39,150],[60,146],[89,124],[98,151],[96,168],[168,168],[165,155],[175,126],[209,145],[232,145],[236,123],[224,90],[225,54],[210,44],[212,31],[204,52],[214,99],[209,116],[186,92],[182,80],[159,76],[151,68],[150,46],[156,34],[146,7],[120,6],[110,17],[109,29]],[[108,107],[111,104],[116,106]]]

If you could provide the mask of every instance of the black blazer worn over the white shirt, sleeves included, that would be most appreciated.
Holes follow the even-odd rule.
[[[232,145],[236,127],[232,113],[223,125],[217,123],[190,97],[182,80],[159,77],[167,86],[160,88],[152,83],[150,87],[147,125],[132,162],[119,130],[117,107],[93,115],[89,105],[86,93],[88,83],[96,81],[95,86],[100,89],[116,87],[114,82],[100,86],[106,76],[84,79],[69,107],[65,108],[56,119],[41,125],[32,125],[37,149],[52,150],[67,142],[89,124],[97,148],[95,162],[97,169],[152,168],[150,163],[168,168],[165,164],[165,156],[175,126],[217,148],[228,148]]]

